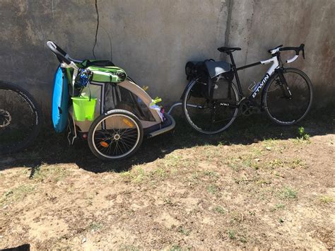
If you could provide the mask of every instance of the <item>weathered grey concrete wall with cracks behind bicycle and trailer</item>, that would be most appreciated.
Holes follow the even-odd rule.
[[[97,58],[112,57],[167,105],[180,98],[189,60],[223,58],[216,48],[231,45],[242,47],[235,52],[242,65],[267,59],[270,47],[302,42],[307,58],[292,66],[310,76],[318,105],[334,100],[334,0],[98,0],[98,11]],[[57,59],[45,43],[92,59],[95,1],[1,0],[0,22],[1,79],[23,85],[48,112]],[[265,69],[246,70],[244,86]]]

